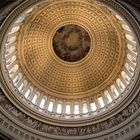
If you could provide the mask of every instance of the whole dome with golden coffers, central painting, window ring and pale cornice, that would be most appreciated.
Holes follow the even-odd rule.
[[[49,125],[84,129],[134,97],[138,38],[109,4],[36,1],[10,16],[1,47],[2,77],[6,96],[27,114]]]

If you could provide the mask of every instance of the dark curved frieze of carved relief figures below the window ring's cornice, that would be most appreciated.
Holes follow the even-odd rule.
[[[14,117],[14,119],[20,121],[22,124],[38,130],[40,132],[52,134],[52,135],[61,135],[61,136],[84,136],[99,133],[101,131],[105,131],[111,129],[112,127],[119,125],[120,123],[126,121],[129,117],[131,117],[136,111],[140,108],[140,93],[133,100],[131,104],[129,104],[124,110],[122,110],[117,115],[97,124],[88,125],[84,127],[60,127],[55,125],[46,124],[40,122],[27,114],[21,112],[18,108],[16,108],[10,101],[5,97],[5,95],[0,93],[0,105],[1,107],[7,111],[10,115]],[[137,123],[139,125],[139,123]],[[6,127],[6,124],[5,124]]]

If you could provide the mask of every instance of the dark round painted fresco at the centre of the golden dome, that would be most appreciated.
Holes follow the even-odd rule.
[[[76,62],[84,58],[91,45],[88,32],[74,24],[59,28],[53,37],[53,49],[55,54],[68,62]]]

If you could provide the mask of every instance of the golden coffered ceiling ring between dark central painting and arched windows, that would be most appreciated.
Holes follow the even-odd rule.
[[[78,94],[87,96],[85,92],[90,90],[90,95],[96,94],[103,90],[104,83],[118,76],[124,62],[125,43],[120,25],[107,11],[110,17],[96,3],[91,6],[85,2],[61,1],[40,6],[32,13],[35,16],[29,17],[21,28],[23,37],[18,57],[24,73],[35,86],[58,97],[65,94],[73,98]],[[91,51],[79,63],[60,62],[52,52],[52,37],[57,28],[73,22],[89,30]]]

